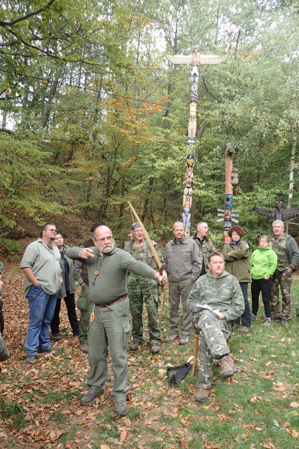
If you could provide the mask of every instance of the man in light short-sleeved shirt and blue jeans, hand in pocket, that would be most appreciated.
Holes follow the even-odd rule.
[[[53,242],[56,226],[43,225],[40,238],[25,249],[21,269],[24,273],[24,294],[29,303],[29,324],[25,340],[26,363],[31,364],[38,352],[58,352],[50,343],[52,321],[62,276],[60,252]]]

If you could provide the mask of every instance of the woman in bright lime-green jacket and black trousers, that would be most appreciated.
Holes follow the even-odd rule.
[[[276,252],[271,249],[270,238],[268,235],[262,235],[259,247],[250,258],[251,266],[251,297],[252,313],[251,319],[256,320],[259,310],[259,296],[262,291],[262,298],[265,308],[264,327],[271,326],[271,303],[270,292],[272,287],[272,276],[277,267]]]

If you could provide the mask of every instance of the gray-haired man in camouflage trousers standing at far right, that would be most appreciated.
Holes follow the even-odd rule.
[[[285,225],[281,220],[275,220],[272,224],[274,235],[270,236],[270,245],[278,257],[277,268],[273,275],[272,289],[270,293],[271,319],[282,320],[283,325],[289,324],[291,315],[291,283],[292,273],[297,270],[299,262],[299,250],[296,241],[291,235],[284,232]],[[283,297],[283,309],[280,313],[279,286]],[[299,303],[297,307],[299,318]]]

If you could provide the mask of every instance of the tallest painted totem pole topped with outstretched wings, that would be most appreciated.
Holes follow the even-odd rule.
[[[193,55],[184,56],[178,54],[176,56],[166,55],[167,59],[172,64],[192,64],[191,71],[191,95],[190,95],[190,116],[188,121],[188,139],[187,139],[187,158],[185,162],[185,187],[183,193],[183,213],[182,222],[185,225],[187,236],[190,235],[190,219],[191,219],[191,204],[192,204],[192,183],[193,183],[193,168],[195,156],[195,137],[196,137],[196,105],[198,100],[197,82],[198,82],[198,65],[215,65],[221,64],[227,56],[203,55],[199,53],[199,45],[194,45]]]

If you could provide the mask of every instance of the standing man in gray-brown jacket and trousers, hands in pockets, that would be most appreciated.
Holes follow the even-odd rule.
[[[192,326],[192,314],[187,308],[187,298],[193,283],[201,273],[201,255],[195,240],[185,236],[185,226],[176,222],[172,226],[174,238],[168,241],[164,250],[165,270],[169,281],[170,315],[169,335],[165,343],[179,339],[179,300],[183,306],[182,336],[179,344],[189,341]]]

